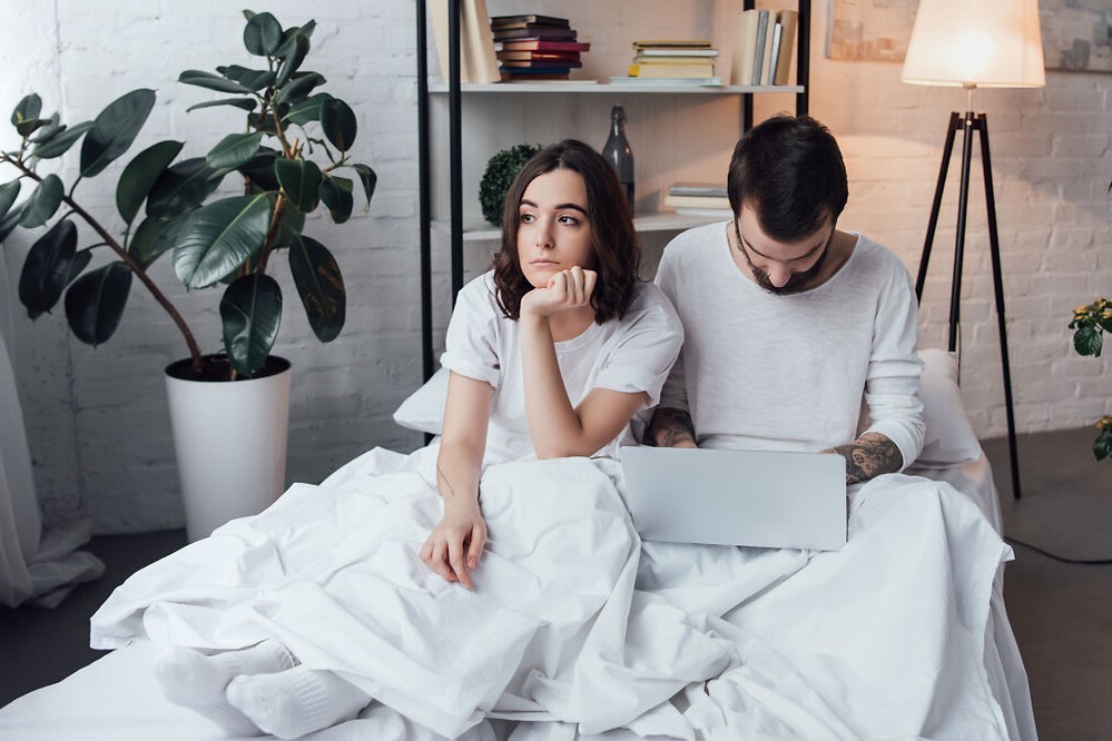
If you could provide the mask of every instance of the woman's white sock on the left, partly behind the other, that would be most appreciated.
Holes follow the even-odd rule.
[[[166,699],[209,719],[232,737],[258,735],[259,728],[228,704],[224,691],[234,676],[244,673],[281,672],[297,662],[276,641],[263,641],[240,651],[206,655],[190,649],[168,646],[155,656],[155,676]]]

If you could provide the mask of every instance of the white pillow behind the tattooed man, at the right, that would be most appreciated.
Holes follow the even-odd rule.
[[[981,443],[965,416],[957,387],[957,355],[931,347],[921,349],[919,358],[924,363],[919,399],[926,439],[915,465],[943,467],[976,461]]]

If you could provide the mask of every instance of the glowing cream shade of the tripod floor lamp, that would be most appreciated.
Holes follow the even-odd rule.
[[[1039,0],[919,0],[902,79],[966,88],[1043,87]]]

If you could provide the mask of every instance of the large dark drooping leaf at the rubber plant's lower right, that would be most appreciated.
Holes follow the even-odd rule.
[[[347,310],[344,278],[336,259],[321,243],[302,237],[289,247],[289,271],[313,333],[322,343],[332,342],[344,328]]]

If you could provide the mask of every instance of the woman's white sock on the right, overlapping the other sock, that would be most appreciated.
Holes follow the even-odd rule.
[[[352,720],[371,702],[371,695],[333,672],[305,666],[237,676],[226,694],[233,708],[279,739],[297,739]]]

